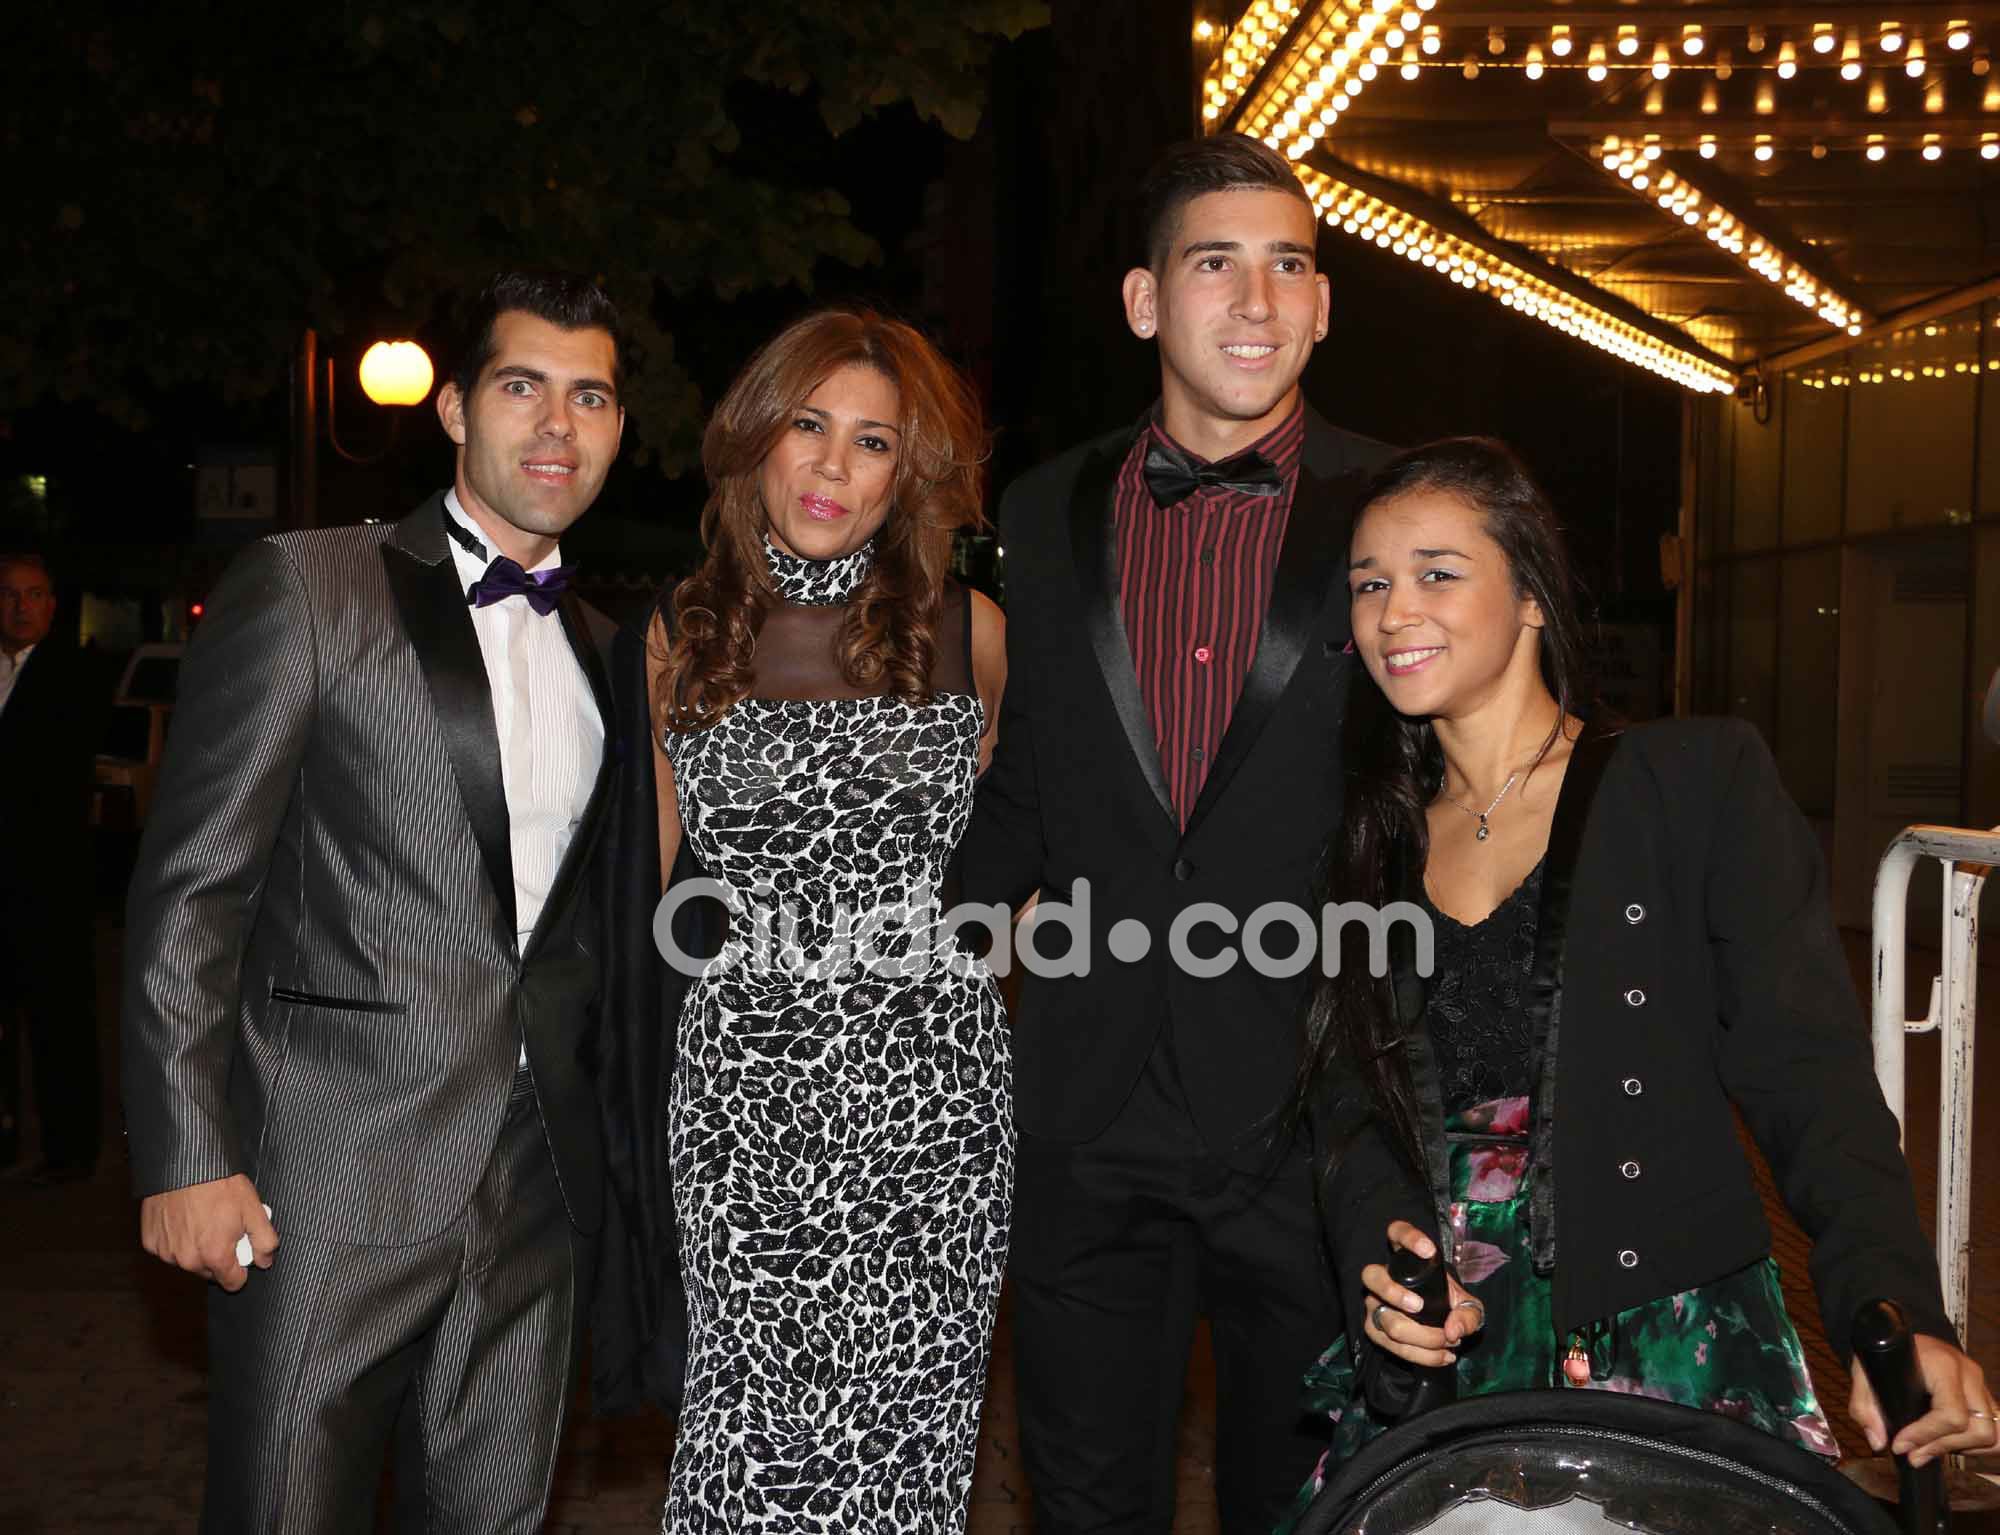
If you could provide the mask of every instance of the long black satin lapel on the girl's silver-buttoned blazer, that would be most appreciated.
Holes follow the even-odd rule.
[[[1534,931],[1534,969],[1528,973],[1528,1037],[1534,1041],[1534,1121],[1532,1159],[1534,1187],[1528,1197],[1532,1225],[1534,1271],[1548,1273],[1556,1263],[1556,1169],[1550,1157],[1556,1133],[1556,1049],[1562,1029],[1562,955],[1570,925],[1570,893],[1576,885],[1576,859],[1584,849],[1584,827],[1590,805],[1596,803],[1604,768],[1618,750],[1618,736],[1584,728],[1582,740],[1570,750],[1570,766],[1556,795],[1556,813],[1548,825],[1548,861],[1542,865],[1542,907]]]

